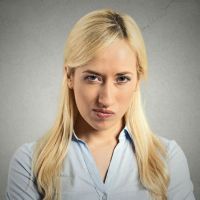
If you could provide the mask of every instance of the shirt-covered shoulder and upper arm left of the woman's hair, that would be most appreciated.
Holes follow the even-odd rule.
[[[21,145],[9,165],[6,199],[41,199],[33,176],[32,157],[35,142]]]

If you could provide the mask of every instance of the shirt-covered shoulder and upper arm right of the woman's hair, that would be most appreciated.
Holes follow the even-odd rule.
[[[167,167],[170,176],[169,199],[194,200],[193,183],[184,151],[175,140],[159,137],[167,149]]]

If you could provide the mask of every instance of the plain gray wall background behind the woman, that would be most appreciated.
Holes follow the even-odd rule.
[[[72,25],[98,8],[131,15],[146,42],[149,79],[143,83],[147,118],[174,139],[188,160],[200,199],[200,2],[195,0],[1,0],[0,194],[15,149],[41,136],[57,111],[63,49]]]

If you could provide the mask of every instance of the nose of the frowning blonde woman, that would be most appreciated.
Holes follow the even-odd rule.
[[[98,106],[110,107],[114,102],[114,87],[112,82],[105,82],[100,86],[98,94]]]

